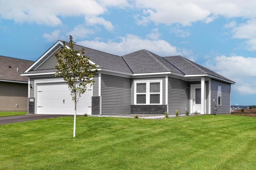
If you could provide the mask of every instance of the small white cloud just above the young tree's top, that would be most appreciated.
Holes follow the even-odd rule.
[[[67,35],[71,35],[74,38],[74,40],[79,40],[87,38],[88,35],[93,33],[93,30],[87,29],[82,25],[78,25],[71,32],[68,32]]]

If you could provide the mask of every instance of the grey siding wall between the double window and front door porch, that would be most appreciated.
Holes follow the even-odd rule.
[[[187,81],[168,77],[168,112],[169,115],[175,114],[179,109],[179,114],[185,114],[188,109],[188,86]]]

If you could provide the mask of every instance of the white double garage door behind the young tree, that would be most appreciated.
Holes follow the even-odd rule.
[[[40,83],[37,86],[38,114],[74,114],[74,101],[66,83]],[[92,88],[88,86],[81,95],[77,107],[77,115],[92,113]]]

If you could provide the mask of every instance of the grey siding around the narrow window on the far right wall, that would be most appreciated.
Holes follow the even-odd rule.
[[[230,84],[213,79],[211,80],[211,113],[214,113],[213,99],[218,102],[218,86],[221,86],[221,106],[217,106],[216,114],[230,113]]]

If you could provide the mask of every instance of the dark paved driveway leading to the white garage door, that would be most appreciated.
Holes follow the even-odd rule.
[[[72,116],[72,115],[22,115],[22,116],[0,117],[0,125],[17,123],[17,122],[34,121],[39,119],[66,117],[66,116]]]

